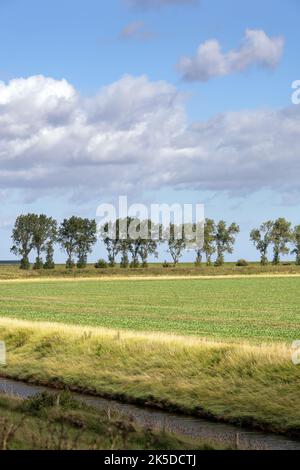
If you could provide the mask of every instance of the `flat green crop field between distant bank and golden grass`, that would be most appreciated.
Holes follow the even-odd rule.
[[[1,282],[0,316],[227,341],[300,338],[300,278]]]

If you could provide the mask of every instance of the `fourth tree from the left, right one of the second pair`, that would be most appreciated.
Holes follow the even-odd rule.
[[[77,267],[85,268],[88,254],[97,241],[97,223],[89,219],[77,219],[76,253],[78,256]]]

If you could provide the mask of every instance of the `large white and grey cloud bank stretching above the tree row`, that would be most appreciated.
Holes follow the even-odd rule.
[[[85,199],[145,189],[299,191],[300,107],[188,124],[177,89],[125,76],[92,97],[43,76],[0,83],[0,190]]]

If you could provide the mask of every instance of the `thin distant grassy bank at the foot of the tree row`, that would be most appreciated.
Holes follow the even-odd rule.
[[[232,275],[257,275],[257,274],[300,274],[300,266],[294,263],[288,265],[261,266],[260,263],[249,263],[249,266],[238,267],[236,263],[225,263],[224,266],[214,267],[203,264],[196,267],[193,263],[180,263],[176,268],[170,264],[163,268],[162,263],[149,264],[148,268],[121,269],[115,268],[96,269],[94,265],[88,265],[86,269],[68,270],[64,265],[57,265],[54,270],[22,271],[18,266],[0,265],[1,279],[36,279],[36,278],[76,278],[76,277],[159,277],[159,276],[232,276]]]

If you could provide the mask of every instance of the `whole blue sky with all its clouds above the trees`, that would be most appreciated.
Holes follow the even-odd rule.
[[[17,215],[95,217],[119,195],[204,203],[241,227],[228,259],[257,259],[252,228],[300,223],[299,15],[298,0],[0,0],[0,259]]]

